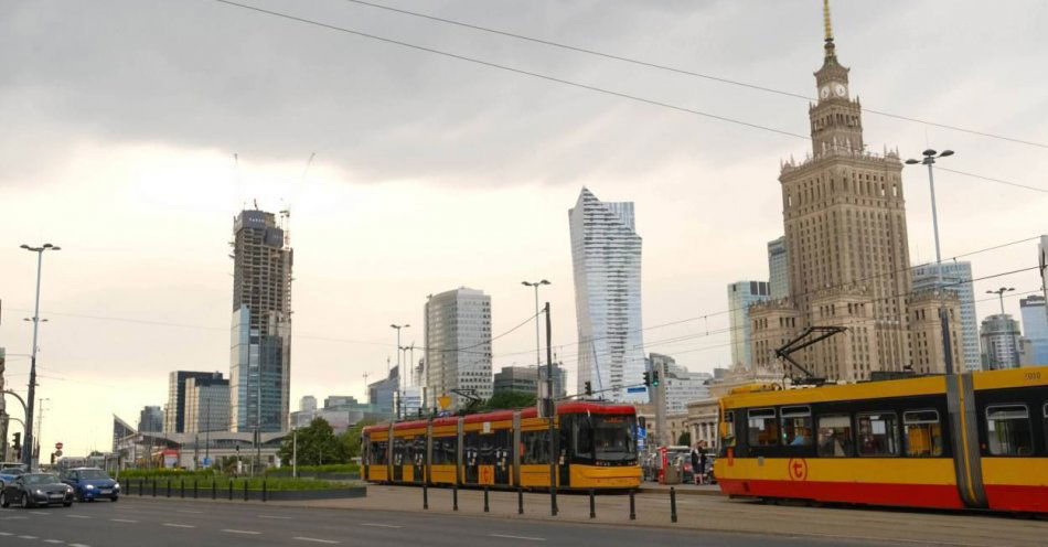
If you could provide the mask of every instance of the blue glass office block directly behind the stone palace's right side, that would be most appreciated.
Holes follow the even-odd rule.
[[[939,285],[939,267],[934,264],[915,266],[912,276],[912,291],[933,290]],[[954,367],[958,372],[982,369],[982,355],[979,350],[979,318],[975,317],[975,291],[971,283],[972,262],[949,261],[942,264],[943,288],[956,294],[961,303],[961,339],[963,346],[963,366]]]

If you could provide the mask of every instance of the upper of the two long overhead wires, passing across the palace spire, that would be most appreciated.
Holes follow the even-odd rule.
[[[506,36],[506,37],[512,37],[512,39],[516,39],[516,40],[523,40],[523,41],[525,41],[525,42],[532,42],[532,43],[536,43],[536,44],[548,45],[548,46],[552,46],[552,47],[559,47],[559,49],[562,49],[562,50],[573,51],[573,52],[576,52],[576,53],[584,53],[584,54],[587,54],[587,55],[593,55],[593,56],[598,56],[598,57],[609,58],[609,60],[612,60],[612,61],[620,61],[620,62],[623,62],[623,63],[629,63],[629,64],[633,64],[633,65],[638,65],[638,66],[644,66],[644,67],[648,67],[648,68],[656,68],[656,69],[660,69],[660,71],[667,71],[667,72],[672,72],[672,73],[676,73],[676,74],[683,74],[683,75],[686,75],[686,76],[694,76],[694,77],[697,77],[697,78],[708,79],[708,81],[717,82],[717,83],[720,83],[720,84],[728,84],[728,85],[734,85],[734,86],[738,86],[738,87],[745,87],[745,88],[753,89],[753,90],[757,90],[757,92],[771,93],[771,94],[776,94],[776,95],[781,95],[781,96],[783,96],[783,97],[792,97],[792,98],[798,98],[798,99],[803,99],[803,100],[809,100],[809,101],[811,101],[811,100],[817,100],[815,97],[810,97],[810,96],[808,96],[808,95],[800,94],[800,93],[793,93],[793,92],[787,92],[787,90],[782,90],[782,89],[776,89],[776,88],[773,88],[773,87],[767,87],[767,86],[762,86],[762,85],[758,85],[758,84],[751,84],[751,83],[747,83],[747,82],[740,82],[740,81],[737,81],[737,79],[727,78],[727,77],[724,77],[724,76],[716,76],[716,75],[713,75],[713,74],[705,74],[705,73],[701,73],[701,72],[689,71],[689,69],[687,69],[687,68],[681,68],[681,67],[677,67],[677,66],[671,66],[671,65],[654,63],[654,62],[651,62],[651,61],[643,61],[643,60],[639,60],[639,58],[627,57],[627,56],[623,56],[623,55],[616,55],[616,54],[612,54],[612,53],[606,53],[606,52],[601,52],[601,51],[597,51],[597,50],[592,50],[592,49],[588,49],[588,47],[580,47],[580,46],[577,46],[577,45],[569,45],[569,44],[565,44],[565,43],[560,43],[560,42],[554,42],[554,41],[552,41],[552,40],[544,40],[544,39],[539,39],[539,37],[527,36],[527,35],[518,34],[518,33],[515,33],[515,32],[503,31],[503,30],[499,30],[499,29],[492,29],[492,28],[490,28],[490,26],[482,26],[482,25],[473,24],[473,23],[467,23],[467,22],[464,22],[464,21],[459,21],[459,20],[455,20],[455,19],[441,18],[441,17],[432,15],[432,14],[429,14],[429,13],[421,13],[421,12],[417,12],[417,11],[405,10],[405,9],[403,9],[403,8],[395,8],[395,7],[392,7],[392,6],[385,6],[385,4],[375,3],[375,2],[367,2],[367,1],[364,1],[364,0],[344,0],[344,1],[351,2],[351,3],[355,3],[355,4],[360,4],[360,6],[367,6],[367,7],[375,8],[375,9],[379,9],[379,10],[392,11],[392,12],[400,13],[400,14],[404,14],[404,15],[409,15],[409,17],[415,17],[415,18],[420,18],[420,19],[428,19],[428,20],[430,20],[430,21],[437,21],[437,22],[439,22],[439,23],[451,24],[451,25],[461,26],[461,28],[470,29],[470,30],[474,30],[474,31],[488,32],[488,33],[491,33],[491,34],[500,35],[500,36]],[[937,122],[937,121],[930,121],[930,120],[924,120],[924,119],[920,119],[920,118],[913,118],[913,117],[911,117],[911,116],[903,116],[903,115],[901,115],[901,114],[892,114],[892,112],[887,112],[887,111],[884,111],[884,110],[875,110],[875,109],[871,109],[871,108],[868,108],[868,107],[863,108],[863,110],[866,111],[866,112],[869,112],[869,114],[875,114],[875,115],[884,116],[884,117],[887,117],[887,118],[895,118],[895,119],[899,119],[899,120],[903,120],[903,121],[911,121],[911,122],[915,122],[915,124],[922,124],[922,125],[926,125],[926,126],[932,126],[932,127],[938,127],[938,128],[942,128],[942,129],[950,129],[950,130],[952,130],[952,131],[960,131],[960,132],[964,132],[964,133],[969,133],[969,135],[976,135],[976,136],[980,136],[980,137],[986,137],[986,138],[991,138],[991,139],[998,139],[998,140],[1004,140],[1004,141],[1008,141],[1008,142],[1015,142],[1015,143],[1019,143],[1019,144],[1027,144],[1027,146],[1030,146],[1030,147],[1037,147],[1037,148],[1048,149],[1048,144],[1045,144],[1045,143],[1042,143],[1042,142],[1035,142],[1035,141],[1030,141],[1030,140],[1014,138],[1014,137],[1006,137],[1006,136],[1003,136],[1003,135],[996,135],[996,133],[991,133],[991,132],[987,132],[987,131],[980,131],[980,130],[975,130],[975,129],[969,129],[969,128],[964,128],[964,127],[952,126],[952,125],[949,125],[949,124],[940,124],[940,122]],[[1038,189],[1038,190],[1040,190],[1040,189]]]

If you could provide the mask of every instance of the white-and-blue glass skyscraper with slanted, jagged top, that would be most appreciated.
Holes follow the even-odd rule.
[[[586,382],[610,400],[639,403],[628,393],[644,374],[641,323],[641,237],[632,202],[602,202],[582,189],[568,211],[578,326],[578,392]]]

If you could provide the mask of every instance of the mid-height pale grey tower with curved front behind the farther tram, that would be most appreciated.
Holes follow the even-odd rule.
[[[456,390],[491,398],[491,297],[462,287],[429,297],[423,314],[426,386],[432,400],[450,397],[457,409],[467,399]]]

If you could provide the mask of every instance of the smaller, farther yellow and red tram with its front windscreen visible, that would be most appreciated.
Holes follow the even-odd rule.
[[[632,406],[557,406],[558,489],[640,486]],[[549,487],[549,421],[535,408],[364,428],[363,476],[372,482]]]

